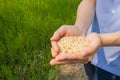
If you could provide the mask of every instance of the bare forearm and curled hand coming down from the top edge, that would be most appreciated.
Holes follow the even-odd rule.
[[[83,0],[77,9],[77,18],[74,25],[62,25],[57,29],[51,40],[52,56],[59,53],[58,40],[63,36],[83,36],[86,35],[95,14],[96,0]]]

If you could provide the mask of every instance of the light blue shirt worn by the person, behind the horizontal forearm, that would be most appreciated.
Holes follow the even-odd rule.
[[[111,33],[120,31],[120,0],[96,0],[96,15],[92,32]],[[102,47],[92,63],[120,76],[120,47]]]

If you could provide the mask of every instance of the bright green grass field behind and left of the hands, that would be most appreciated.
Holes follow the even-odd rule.
[[[0,80],[48,80],[50,37],[74,24],[80,0],[0,0]],[[52,79],[52,78],[51,78]]]

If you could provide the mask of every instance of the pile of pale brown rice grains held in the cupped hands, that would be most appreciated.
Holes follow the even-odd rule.
[[[58,45],[60,47],[61,53],[79,52],[86,47],[85,37],[63,37],[59,40]]]

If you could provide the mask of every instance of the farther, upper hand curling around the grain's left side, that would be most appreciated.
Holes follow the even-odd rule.
[[[84,33],[74,25],[63,25],[58,30],[56,30],[52,36],[51,40],[51,53],[53,57],[56,57],[60,51],[57,42],[64,36],[80,36]]]

